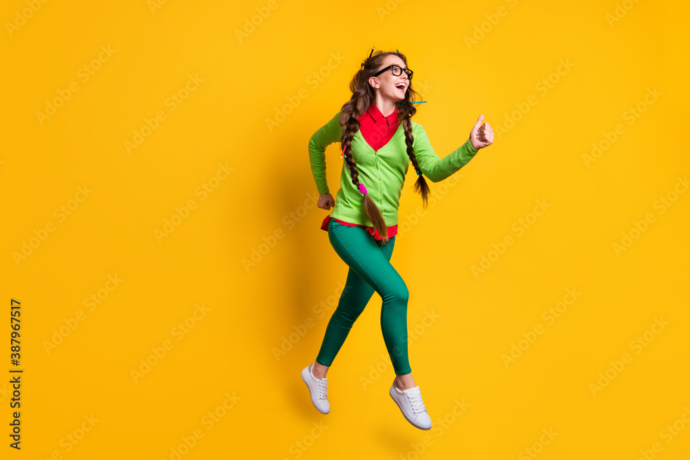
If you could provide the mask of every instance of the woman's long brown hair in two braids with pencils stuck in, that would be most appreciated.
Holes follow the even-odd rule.
[[[357,120],[362,114],[366,112],[369,105],[373,103],[376,99],[376,94],[374,88],[368,83],[370,77],[375,74],[379,68],[382,66],[384,58],[388,54],[394,54],[400,57],[402,61],[407,66],[407,59],[405,55],[400,52],[383,52],[376,51],[371,54],[366,61],[364,61],[364,66],[355,74],[353,79],[350,81],[350,90],[352,91],[352,97],[349,101],[344,103],[342,106],[340,114],[340,126],[342,127],[342,138],[340,141],[340,150],[344,148],[344,157],[346,159],[346,165],[350,170],[352,183],[355,184],[356,188],[359,188],[359,172],[357,172],[357,163],[352,154],[351,142],[357,130],[359,130],[359,120]],[[417,99],[419,98],[419,99]],[[415,151],[412,148],[414,137],[412,135],[412,123],[411,118],[417,112],[417,109],[413,105],[412,101],[421,100],[418,92],[412,88],[412,81],[409,81],[409,86],[405,93],[405,99],[402,101],[397,101],[395,106],[397,107],[398,123],[402,123],[405,130],[405,143],[407,145],[407,154],[412,161],[415,171],[421,172],[420,167],[417,165],[417,157],[415,157]],[[419,174],[417,181],[414,185],[415,192],[420,192],[422,194],[422,201],[424,201],[424,208],[426,208],[429,188],[426,183],[426,179],[422,174]],[[386,228],[386,221],[381,214],[381,210],[376,206],[368,193],[364,194],[364,212],[366,212],[366,217],[373,223],[373,226],[378,230],[379,234],[383,238],[382,242],[388,242],[388,229]]]

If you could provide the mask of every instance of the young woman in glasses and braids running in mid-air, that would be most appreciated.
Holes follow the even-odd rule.
[[[316,361],[302,370],[302,380],[317,410],[330,412],[326,372],[375,291],[382,299],[381,330],[396,374],[389,394],[413,426],[428,430],[431,418],[407,354],[409,292],[391,265],[400,194],[412,163],[418,176],[414,190],[420,192],[426,208],[429,188],[424,176],[432,182],[451,176],[480,148],[493,143],[493,130],[489,123],[482,124],[484,115],[480,115],[469,139],[440,159],[424,128],[411,121],[418,96],[412,76],[404,54],[370,54],[350,82],[351,99],[309,141],[311,170],[320,194],[317,206],[325,210],[333,206],[321,228],[349,271]],[[334,201],[326,183],[324,152],[337,141],[344,164]]]

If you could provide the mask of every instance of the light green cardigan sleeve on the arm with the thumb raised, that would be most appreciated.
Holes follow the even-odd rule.
[[[417,164],[420,166],[422,174],[432,182],[442,181],[455,174],[457,170],[469,163],[479,151],[473,148],[468,137],[462,146],[441,159],[431,147],[426,131],[421,125],[419,125],[419,130],[414,137],[413,146]]]

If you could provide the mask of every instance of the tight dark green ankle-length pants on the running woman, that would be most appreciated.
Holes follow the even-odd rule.
[[[338,256],[350,267],[338,306],[328,321],[316,361],[331,366],[353,323],[374,291],[382,299],[381,330],[395,374],[412,372],[407,356],[407,301],[409,291],[391,265],[395,237],[382,244],[362,227],[348,227],[331,219],[328,239]]]

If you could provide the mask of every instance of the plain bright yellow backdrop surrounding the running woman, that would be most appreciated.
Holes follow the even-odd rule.
[[[686,2],[158,6],[48,1],[22,22],[28,3],[3,2],[3,459],[174,459],[181,445],[183,459],[688,457],[690,192],[671,193],[664,212],[657,201],[690,172]],[[311,201],[306,147],[350,97],[372,46],[406,54],[428,101],[413,120],[440,157],[480,114],[497,133],[445,185],[430,183],[436,201],[422,217],[412,168],[401,199],[408,226],[391,261],[411,292],[408,327],[422,332],[409,351],[429,432],[387,394],[378,294],[328,372],[330,414],[313,408],[299,378],[347,272],[319,229],[327,212]],[[558,75],[561,60],[573,66]],[[84,66],[98,67],[88,81]],[[170,110],[189,75],[203,81]],[[70,83],[79,89],[41,123],[37,112]],[[513,115],[530,97],[529,112]],[[277,110],[289,113],[269,128]],[[125,141],[160,111],[128,152]],[[619,124],[588,166],[583,155]],[[335,196],[342,163],[336,145],[326,154]],[[190,200],[195,209],[159,241],[156,230]],[[551,206],[518,234],[538,200]],[[62,220],[61,206],[73,208]],[[646,214],[653,222],[617,253]],[[17,259],[46,223],[53,231]],[[491,254],[506,236],[513,244]],[[494,261],[475,276],[482,256]],[[542,314],[568,289],[581,294],[549,323]],[[90,310],[83,302],[99,292]],[[21,451],[8,446],[10,299],[22,312]],[[430,312],[437,318],[423,326]],[[180,337],[185,320],[193,327]],[[61,328],[66,337],[47,350]],[[155,363],[164,343],[172,348]],[[524,350],[506,367],[513,344]],[[289,350],[276,355],[281,346]],[[631,360],[612,370],[624,353]],[[135,379],[146,359],[155,365]],[[593,392],[607,370],[613,378]],[[456,416],[458,401],[469,406]],[[215,410],[223,417],[211,426]],[[684,429],[662,431],[674,422]],[[558,434],[542,437],[549,430]]]

